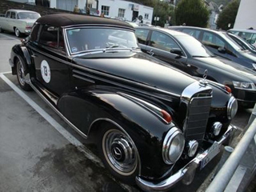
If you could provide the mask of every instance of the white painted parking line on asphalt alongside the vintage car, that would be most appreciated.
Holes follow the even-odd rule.
[[[46,119],[47,122],[50,123],[50,125],[54,126],[56,130],[64,138],[66,138],[70,143],[72,143],[74,146],[78,147],[78,150],[82,151],[83,154],[86,155],[86,158],[89,158],[90,160],[99,163],[100,166],[102,166],[102,162],[99,160],[98,157],[96,157],[90,150],[88,150],[82,142],[79,142],[77,138],[74,138],[72,134],[70,134],[63,126],[61,126],[58,122],[54,120],[49,114],[46,113],[45,110],[43,110],[40,106],[38,106],[37,103],[35,103],[31,98],[29,98],[26,94],[22,92],[22,90],[18,89],[17,86],[14,85],[13,82],[11,82],[4,74],[0,74],[0,78],[2,78],[3,81],[5,81],[19,96],[21,96],[30,106],[34,108],[40,114],[43,118]]]

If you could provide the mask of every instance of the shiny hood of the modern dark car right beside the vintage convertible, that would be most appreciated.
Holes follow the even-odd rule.
[[[254,78],[256,73],[254,70],[250,70],[249,68],[246,68],[245,66],[241,66],[237,64],[236,62],[229,61],[225,58],[221,57],[214,57],[214,58],[194,58],[196,61],[207,63],[207,66],[214,66],[214,68],[218,69],[218,71],[225,71],[234,74],[239,75],[244,78]]]

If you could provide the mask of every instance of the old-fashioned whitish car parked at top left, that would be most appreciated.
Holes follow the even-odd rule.
[[[14,31],[17,37],[30,34],[34,22],[41,15],[30,10],[7,10],[5,17],[0,17],[0,33]]]

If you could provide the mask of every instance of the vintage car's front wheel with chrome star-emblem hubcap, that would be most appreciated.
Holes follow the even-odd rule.
[[[102,162],[122,182],[135,184],[138,175],[138,154],[129,135],[115,126],[106,125],[98,142]]]

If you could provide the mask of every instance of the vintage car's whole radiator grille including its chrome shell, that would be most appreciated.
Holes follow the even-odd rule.
[[[210,113],[212,89],[194,82],[182,92],[181,102],[186,104],[186,119],[183,134],[186,141],[202,142]]]

